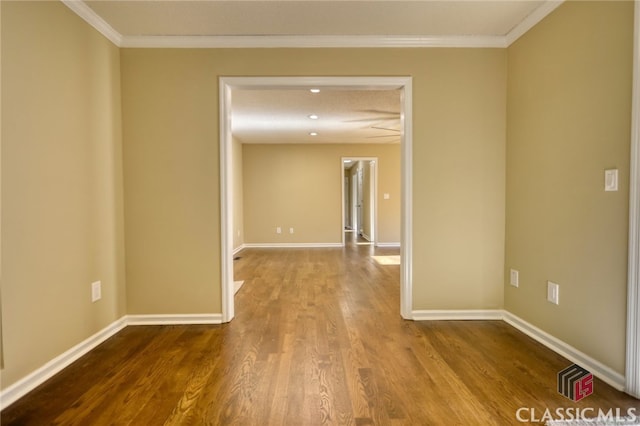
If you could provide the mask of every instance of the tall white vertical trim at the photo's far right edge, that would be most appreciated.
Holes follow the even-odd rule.
[[[634,6],[625,391],[640,398],[640,2]]]

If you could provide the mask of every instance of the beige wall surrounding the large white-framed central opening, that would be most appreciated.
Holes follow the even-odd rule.
[[[121,61],[130,313],[220,312],[217,79],[251,75],[412,76],[414,308],[502,307],[504,49],[122,49]]]

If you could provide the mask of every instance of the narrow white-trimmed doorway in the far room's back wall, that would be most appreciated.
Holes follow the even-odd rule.
[[[375,245],[378,237],[378,158],[342,158],[342,245]]]

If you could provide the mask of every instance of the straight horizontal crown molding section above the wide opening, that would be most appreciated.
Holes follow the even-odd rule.
[[[125,36],[120,47],[143,48],[504,48],[504,36]]]

